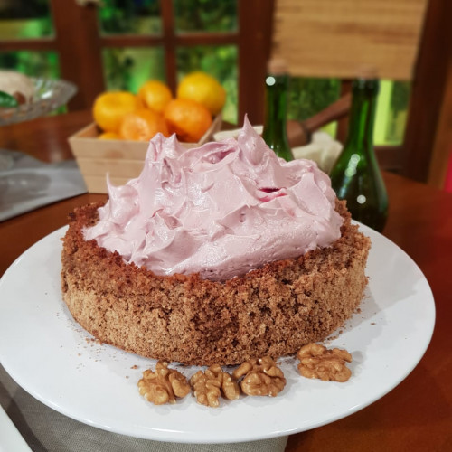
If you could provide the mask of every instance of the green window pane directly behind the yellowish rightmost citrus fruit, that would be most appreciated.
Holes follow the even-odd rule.
[[[237,124],[238,82],[237,82],[237,47],[234,45],[194,46],[177,49],[177,77],[191,71],[204,71],[217,79],[226,89],[226,104],[223,119]],[[243,121],[240,118],[239,122]]]

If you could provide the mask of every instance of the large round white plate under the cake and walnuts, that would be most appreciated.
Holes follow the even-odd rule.
[[[132,437],[184,443],[250,441],[297,433],[344,418],[380,399],[419,363],[433,333],[428,282],[400,248],[372,239],[361,313],[329,341],[353,355],[345,383],[308,380],[297,362],[281,366],[278,397],[242,397],[209,409],[187,396],[156,407],[137,391],[155,361],[92,340],[61,301],[62,228],[17,259],[0,281],[0,361],[15,381],[54,410]],[[334,334],[333,334],[334,335]],[[183,368],[190,376],[195,368]]]

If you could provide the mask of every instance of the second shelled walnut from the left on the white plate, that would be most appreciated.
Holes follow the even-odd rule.
[[[228,372],[223,372],[219,364],[212,365],[205,372],[196,372],[190,379],[190,384],[198,403],[208,407],[218,407],[221,395],[229,400],[240,396],[237,381]]]

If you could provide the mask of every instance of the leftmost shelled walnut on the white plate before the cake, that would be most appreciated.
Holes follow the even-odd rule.
[[[155,405],[175,403],[175,398],[183,398],[190,392],[190,385],[181,372],[168,369],[168,363],[159,361],[155,372],[146,370],[138,381],[140,394]]]

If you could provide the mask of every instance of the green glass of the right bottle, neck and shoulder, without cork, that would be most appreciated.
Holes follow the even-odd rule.
[[[382,231],[388,216],[388,194],[373,149],[380,83],[376,79],[357,79],[352,87],[349,133],[330,171],[331,184],[337,197],[347,201],[353,220]]]

